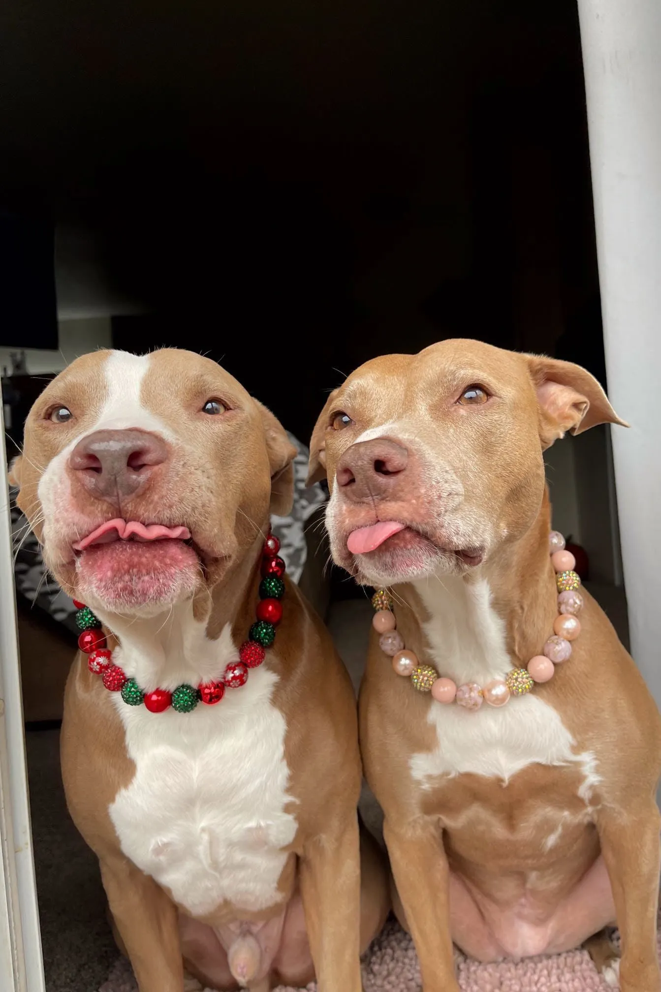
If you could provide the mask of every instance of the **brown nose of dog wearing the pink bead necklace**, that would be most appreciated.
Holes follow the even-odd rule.
[[[408,461],[408,450],[388,437],[357,441],[337,462],[337,485],[356,503],[392,498]]]

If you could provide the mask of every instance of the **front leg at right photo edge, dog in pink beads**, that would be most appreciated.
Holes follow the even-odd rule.
[[[656,949],[659,866],[656,804],[603,807],[596,820],[622,939],[621,992],[659,992],[661,975]]]

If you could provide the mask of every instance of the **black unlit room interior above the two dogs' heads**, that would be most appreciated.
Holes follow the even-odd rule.
[[[5,0],[0,38],[0,208],[95,232],[150,311],[115,346],[208,352],[303,439],[444,336],[603,379],[574,0]]]

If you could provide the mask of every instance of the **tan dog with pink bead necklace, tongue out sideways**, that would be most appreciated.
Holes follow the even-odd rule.
[[[566,362],[471,340],[367,362],[312,440],[332,557],[389,587],[421,663],[458,685],[503,680],[541,654],[558,613],[544,449],[603,423],[622,422]],[[363,764],[425,992],[458,989],[453,940],[492,961],[564,951],[615,922],[621,967],[605,934],[590,943],[607,980],[619,969],[622,990],[659,992],[661,721],[583,595],[571,659],[499,708],[416,692],[372,631]]]

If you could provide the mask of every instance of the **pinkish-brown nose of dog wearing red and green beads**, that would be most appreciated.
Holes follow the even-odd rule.
[[[146,431],[95,431],[78,441],[68,465],[92,496],[119,503],[134,496],[168,457],[164,440]]]

